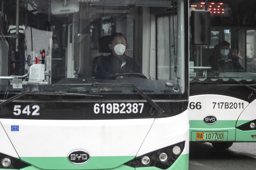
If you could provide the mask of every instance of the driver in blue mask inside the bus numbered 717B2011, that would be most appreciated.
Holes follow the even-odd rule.
[[[245,72],[238,59],[237,56],[230,53],[230,43],[221,41],[214,47],[213,55],[209,58],[209,63],[212,70],[216,72]]]

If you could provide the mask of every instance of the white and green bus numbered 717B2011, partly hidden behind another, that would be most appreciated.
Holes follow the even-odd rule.
[[[256,1],[208,1],[211,44],[190,46],[190,141],[256,141]],[[203,10],[204,1],[189,2]],[[225,54],[226,51],[226,54]]]

